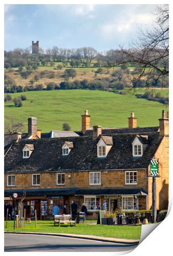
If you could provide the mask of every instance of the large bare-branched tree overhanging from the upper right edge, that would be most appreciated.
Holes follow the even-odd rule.
[[[155,10],[155,22],[151,30],[138,28],[138,40],[129,43],[129,47],[120,46],[119,54],[109,66],[115,67],[120,64],[137,66],[135,83],[141,78],[147,78],[146,86],[154,88],[158,80],[164,83],[168,76],[169,57],[169,9],[168,5],[159,5]],[[162,83],[162,84],[163,84]]]

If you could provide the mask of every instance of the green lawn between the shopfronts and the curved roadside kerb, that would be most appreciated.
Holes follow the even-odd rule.
[[[7,223],[5,231],[13,232],[13,221]],[[5,225],[4,225],[5,227]],[[79,223],[76,227],[70,227],[70,224],[54,227],[53,221],[38,221],[35,228],[35,221],[27,223],[25,228],[15,229],[16,232],[43,232],[43,233],[66,233],[79,235],[95,235],[103,237],[115,237],[124,239],[140,239],[141,225],[137,226],[108,226],[108,225],[88,225],[87,223]]]

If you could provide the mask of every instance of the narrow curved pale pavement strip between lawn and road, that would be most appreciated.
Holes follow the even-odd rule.
[[[40,232],[5,232],[6,234],[29,234],[29,235],[49,235],[56,237],[70,237],[70,238],[79,238],[79,239],[88,239],[93,241],[101,242],[110,242],[110,243],[119,243],[119,244],[138,244],[140,239],[122,239],[122,238],[113,238],[113,237],[99,237],[93,235],[78,235],[78,234],[66,234],[66,233],[40,233]]]

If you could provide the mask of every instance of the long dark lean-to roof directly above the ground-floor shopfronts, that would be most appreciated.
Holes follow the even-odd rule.
[[[31,196],[63,196],[63,195],[122,195],[122,194],[147,194],[147,191],[143,188],[101,188],[101,189],[82,189],[82,188],[60,188],[60,189],[27,189],[26,191],[26,197]],[[18,196],[23,195],[23,190],[5,190],[4,195],[5,197],[10,197],[12,194],[16,192]]]

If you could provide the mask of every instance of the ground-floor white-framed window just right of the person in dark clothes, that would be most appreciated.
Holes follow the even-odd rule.
[[[97,196],[84,196],[84,203],[87,211],[99,211],[101,209],[101,199]]]

